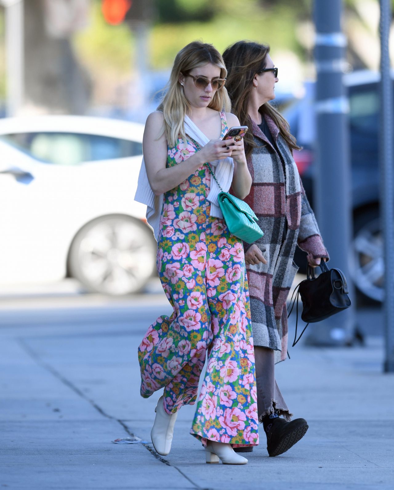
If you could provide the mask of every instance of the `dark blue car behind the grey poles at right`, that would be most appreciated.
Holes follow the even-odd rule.
[[[379,223],[379,73],[360,71],[344,76],[349,99],[349,137],[353,240],[351,273],[361,297],[383,300],[383,243]],[[297,143],[295,160],[306,194],[313,207],[316,116],[315,83],[305,84],[305,97],[283,111]],[[306,268],[305,254],[297,251],[296,262]],[[365,298],[364,298],[365,299]]]

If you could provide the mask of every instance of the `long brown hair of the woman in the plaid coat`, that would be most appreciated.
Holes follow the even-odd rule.
[[[249,96],[253,90],[253,78],[256,73],[261,73],[261,70],[266,67],[269,52],[270,47],[268,45],[251,41],[238,41],[229,46],[223,53],[223,60],[227,68],[226,88],[230,96],[232,112],[238,117],[242,125],[249,127],[251,125],[247,109]],[[290,133],[289,123],[271,104],[266,102],[259,111],[261,114],[267,114],[271,117],[291,151],[300,149],[297,146],[296,138]],[[244,140],[246,157],[248,157],[256,146],[251,131],[246,133]]]

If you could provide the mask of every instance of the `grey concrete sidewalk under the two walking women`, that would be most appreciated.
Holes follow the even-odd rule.
[[[0,488],[393,488],[394,375],[381,372],[378,337],[349,349],[297,345],[277,366],[289,408],[309,423],[287,453],[269,458],[261,430],[248,465],[206,465],[189,435],[188,406],[171,453],[159,457],[149,442],[158,396],[139,396],[136,349],[150,320],[165,311],[134,305],[119,318],[116,308],[98,308],[89,321],[75,309],[42,321],[34,312],[31,321],[26,312],[20,323],[0,319]],[[148,443],[111,442],[126,437]]]

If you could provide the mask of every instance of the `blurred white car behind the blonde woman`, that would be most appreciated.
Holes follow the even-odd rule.
[[[0,119],[0,283],[66,276],[105,294],[155,269],[146,206],[134,201],[143,124],[85,116]]]

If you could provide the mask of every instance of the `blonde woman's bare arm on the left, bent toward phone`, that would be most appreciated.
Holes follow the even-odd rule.
[[[181,164],[167,168],[167,138],[165,133],[157,139],[157,135],[162,131],[163,123],[162,112],[155,111],[149,114],[142,143],[149,185],[156,196],[178,186],[205,162],[231,156],[231,149],[227,150],[225,146],[223,147],[222,140],[211,140],[200,151],[196,151]]]

